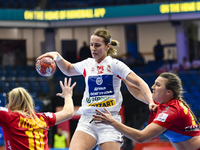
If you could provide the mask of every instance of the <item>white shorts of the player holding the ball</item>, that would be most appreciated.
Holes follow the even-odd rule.
[[[120,142],[123,143],[122,134],[117,131],[111,125],[99,123],[95,124],[94,121],[91,122],[93,117],[81,115],[76,131],[83,131],[97,140],[97,144],[102,144],[105,142]],[[113,118],[121,122],[120,115],[113,115]],[[90,123],[91,122],[91,123]]]

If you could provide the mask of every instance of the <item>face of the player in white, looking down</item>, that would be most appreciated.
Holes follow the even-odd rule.
[[[90,50],[92,57],[97,61],[102,61],[106,56],[110,48],[110,43],[105,45],[103,38],[92,35],[90,38]]]

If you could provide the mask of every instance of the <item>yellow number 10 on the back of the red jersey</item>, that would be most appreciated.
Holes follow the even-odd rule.
[[[30,150],[44,150],[43,129],[27,130],[25,134],[28,136]]]

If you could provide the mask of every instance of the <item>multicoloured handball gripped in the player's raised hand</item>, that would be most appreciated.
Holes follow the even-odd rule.
[[[43,57],[37,60],[35,67],[41,76],[49,77],[55,72],[56,63],[51,57]]]

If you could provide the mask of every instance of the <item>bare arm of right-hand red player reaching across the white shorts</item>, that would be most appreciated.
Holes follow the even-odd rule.
[[[106,108],[104,108],[104,110],[106,111],[106,113],[103,113],[98,109],[96,110],[98,112],[98,115],[93,115],[94,116],[93,120],[95,121],[95,123],[104,123],[112,125],[116,130],[121,132],[124,136],[138,143],[149,141],[150,139],[157,137],[158,135],[167,130],[166,128],[155,123],[149,124],[143,130],[137,130],[118,122],[112,117],[111,113]]]

